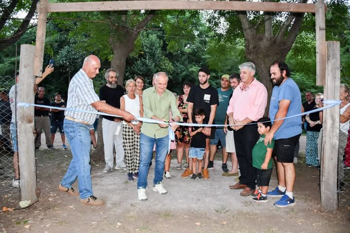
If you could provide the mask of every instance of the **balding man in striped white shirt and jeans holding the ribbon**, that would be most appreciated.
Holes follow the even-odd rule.
[[[82,112],[65,111],[64,132],[70,144],[72,160],[58,189],[70,195],[80,195],[80,201],[88,205],[102,205],[104,201],[93,196],[90,176],[90,133],[96,114],[86,112],[104,112],[123,117],[126,121],[135,118],[129,112],[114,108],[101,101],[96,94],[92,79],[99,73],[100,59],[95,55],[85,58],[83,67],[74,75],[68,88],[68,109]],[[79,193],[72,188],[78,178]]]

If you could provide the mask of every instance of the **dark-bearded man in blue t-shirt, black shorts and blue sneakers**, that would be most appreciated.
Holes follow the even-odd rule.
[[[290,70],[284,62],[274,62],[270,67],[271,80],[274,84],[270,101],[269,116],[273,125],[266,133],[264,143],[267,145],[275,139],[274,156],[277,158],[278,187],[267,193],[270,197],[281,197],[275,202],[277,207],[295,205],[293,187],[295,167],[294,150],[301,133],[301,116],[284,120],[283,117],[301,113],[301,95],[297,83],[290,78]]]

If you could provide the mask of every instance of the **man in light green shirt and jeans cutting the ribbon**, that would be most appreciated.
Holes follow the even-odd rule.
[[[171,110],[175,122],[182,120],[174,94],[166,89],[169,81],[168,75],[165,72],[158,72],[154,77],[155,86],[144,90],[142,94],[143,116],[168,122]],[[155,144],[156,165],[153,191],[159,194],[167,193],[161,181],[163,180],[164,161],[169,148],[168,127],[167,124],[143,122],[140,134],[140,167],[137,185],[139,200],[147,200],[147,175]],[[178,125],[172,124],[170,127],[175,131]]]

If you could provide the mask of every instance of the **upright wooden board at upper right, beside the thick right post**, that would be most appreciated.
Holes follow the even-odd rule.
[[[316,19],[316,85],[325,85],[326,80],[326,21],[325,4],[317,0],[315,4]]]

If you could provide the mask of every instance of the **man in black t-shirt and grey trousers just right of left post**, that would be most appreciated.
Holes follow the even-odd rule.
[[[40,105],[50,106],[50,100],[45,95],[45,88],[40,86],[38,88],[38,96],[35,97],[34,103]],[[41,131],[44,130],[46,145],[48,149],[53,149],[53,145],[51,143],[51,135],[50,135],[50,118],[49,118],[50,108],[46,107],[34,107],[34,115],[35,115],[35,150],[38,150],[41,146]]]

